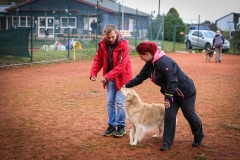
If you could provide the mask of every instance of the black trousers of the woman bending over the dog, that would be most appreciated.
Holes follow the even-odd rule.
[[[195,111],[196,94],[183,101],[170,102],[170,107],[165,109],[163,143],[172,145],[176,131],[176,116],[181,108],[184,117],[187,119],[194,140],[201,141],[204,137],[202,122]]]

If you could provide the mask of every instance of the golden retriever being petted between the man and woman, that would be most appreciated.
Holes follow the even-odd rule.
[[[164,104],[148,104],[142,102],[138,94],[131,88],[122,87],[121,91],[125,96],[126,117],[132,124],[130,131],[130,144],[137,145],[141,141],[146,131],[158,127],[158,133],[153,135],[159,137],[164,128]]]

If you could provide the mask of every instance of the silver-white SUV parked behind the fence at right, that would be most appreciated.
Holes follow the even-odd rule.
[[[188,35],[185,36],[184,43],[186,44],[187,49],[195,47],[210,50],[215,35],[216,33],[210,30],[199,30],[199,32],[198,30],[190,30]],[[229,49],[230,42],[225,39],[222,51],[228,52]]]

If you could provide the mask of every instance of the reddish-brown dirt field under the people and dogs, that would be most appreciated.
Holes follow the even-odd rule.
[[[104,137],[107,128],[106,90],[89,80],[93,60],[22,66],[0,70],[1,160],[239,160],[240,56],[206,62],[201,54],[167,53],[191,77],[197,88],[196,111],[205,138],[198,148],[181,110],[173,147],[159,150],[157,129],[131,146],[122,138]],[[144,62],[132,56],[135,76]],[[146,80],[134,87],[144,102],[162,103],[159,87]]]

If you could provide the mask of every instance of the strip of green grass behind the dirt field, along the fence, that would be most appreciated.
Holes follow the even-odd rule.
[[[135,41],[135,38],[129,38],[130,45],[130,54],[137,55],[135,51],[135,45],[138,45],[140,42],[143,42],[143,38],[138,38]],[[175,50],[186,50],[183,43],[176,42],[175,44],[171,41],[155,41],[156,43],[162,43],[164,46],[165,52],[172,52],[175,47]],[[62,41],[62,44],[65,42]],[[4,56],[0,55],[0,66],[18,66],[18,65],[46,65],[48,63],[59,63],[62,60],[69,61],[78,61],[83,59],[92,59],[96,54],[96,41],[91,40],[89,42],[80,41],[82,45],[82,50],[63,50],[63,51],[43,51],[41,50],[43,45],[53,45],[54,41],[52,40],[35,40],[33,42],[33,53],[31,57],[16,57],[16,56]],[[30,44],[29,44],[30,48]],[[29,50],[31,56],[31,51]]]

